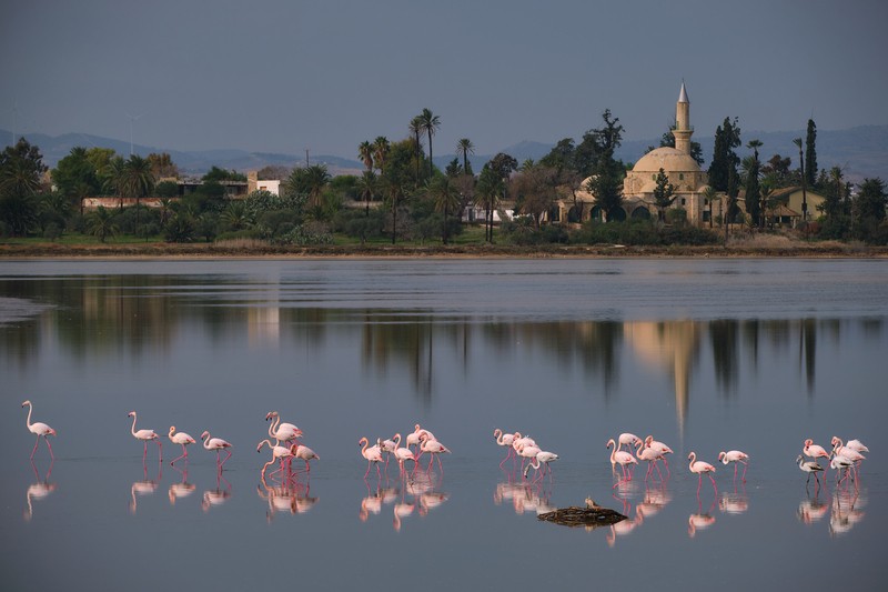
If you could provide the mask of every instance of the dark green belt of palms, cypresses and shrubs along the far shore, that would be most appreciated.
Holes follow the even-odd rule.
[[[766,230],[777,190],[800,185],[803,192],[826,198],[821,211],[803,212],[809,237],[888,243],[885,183],[866,179],[855,188],[839,167],[818,170],[813,120],[805,141],[796,140],[794,168],[791,157],[781,154],[763,162],[757,139],[747,142],[751,154],[740,159],[740,127],[736,118],[725,118],[716,129],[707,170],[709,229],[684,223],[683,210],[674,207],[675,188],[663,170],[654,190],[656,219],[622,219],[623,180],[630,164],[614,155],[624,128],[610,110],[602,113],[599,127],[578,141],[559,140],[536,162],[518,163],[497,153],[478,173],[468,158],[475,150],[468,138],[458,140],[457,155],[444,170],[435,167],[433,141],[441,126],[440,116],[423,109],[408,120],[400,140],[379,136],[359,143],[364,165],[360,175],[332,177],[324,164],[268,168],[259,171],[260,178],[283,178],[280,195],[254,191],[236,200],[225,190],[226,182],[245,182],[236,171],[213,167],[193,192],[180,194],[180,172],[169,154],[123,158],[111,149],[75,147],[49,171],[39,148],[22,138],[0,153],[0,235],[56,240],[80,233],[105,241],[125,234],[171,242],[259,239],[282,244],[342,237],[362,243],[447,244],[467,228],[483,225],[486,242],[700,243],[717,240],[712,203],[719,197],[727,202],[720,224]],[[670,130],[660,146],[674,146]],[[692,142],[692,157],[703,163],[697,142]],[[582,191],[596,197],[599,220],[588,219]],[[88,198],[99,195],[120,202],[117,208],[84,208]],[[147,208],[141,201],[148,198],[159,207]],[[124,207],[124,199],[134,205]],[[567,219],[555,224],[559,202],[571,208]],[[514,220],[504,204],[518,214]],[[467,211],[472,213],[465,215]]]

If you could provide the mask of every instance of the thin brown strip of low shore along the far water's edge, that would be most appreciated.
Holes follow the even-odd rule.
[[[888,247],[838,242],[794,242],[763,245],[350,245],[350,247],[222,247],[216,244],[131,243],[68,245],[0,244],[0,260],[13,259],[888,259]]]

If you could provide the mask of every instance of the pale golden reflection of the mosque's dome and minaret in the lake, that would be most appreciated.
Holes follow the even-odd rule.
[[[672,373],[678,433],[684,439],[690,393],[690,371],[699,342],[698,324],[694,321],[633,322],[626,323],[624,331],[644,361]]]

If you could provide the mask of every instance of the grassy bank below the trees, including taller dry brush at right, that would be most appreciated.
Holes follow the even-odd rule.
[[[516,247],[511,244],[374,243],[317,247],[274,245],[261,241],[216,243],[168,243],[144,241],[50,242],[0,241],[0,259],[214,259],[214,258],[417,258],[417,257],[512,257],[512,258],[888,258],[888,248],[837,241],[803,241],[785,235],[733,237],[727,245],[625,247],[619,244]]]

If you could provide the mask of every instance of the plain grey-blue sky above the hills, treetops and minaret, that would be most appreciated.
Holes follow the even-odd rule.
[[[885,0],[1,0],[0,128],[356,159],[428,108],[435,154],[602,126],[656,139],[888,123]],[[3,142],[9,142],[6,139]]]

